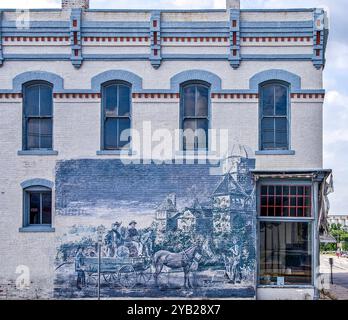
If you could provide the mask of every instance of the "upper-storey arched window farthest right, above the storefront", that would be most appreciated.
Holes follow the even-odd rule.
[[[289,86],[282,82],[261,85],[261,150],[288,150],[289,123]]]

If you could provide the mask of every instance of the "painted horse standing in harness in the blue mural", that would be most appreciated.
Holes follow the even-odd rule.
[[[190,248],[179,252],[173,253],[166,250],[160,250],[153,256],[153,265],[155,268],[155,283],[158,286],[158,277],[161,274],[163,267],[170,269],[183,269],[184,272],[184,287],[193,288],[189,274],[191,271],[196,271],[199,266],[199,262],[202,256],[212,257],[213,253],[210,250],[209,242],[197,241],[197,244]]]

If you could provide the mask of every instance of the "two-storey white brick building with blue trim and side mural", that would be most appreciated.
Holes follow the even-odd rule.
[[[0,299],[317,299],[322,9],[0,10]],[[191,135],[190,135],[191,132]]]

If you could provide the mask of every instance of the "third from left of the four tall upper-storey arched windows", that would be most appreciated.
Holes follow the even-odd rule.
[[[209,93],[206,83],[188,83],[181,87],[181,128],[183,150],[207,150],[209,129]]]

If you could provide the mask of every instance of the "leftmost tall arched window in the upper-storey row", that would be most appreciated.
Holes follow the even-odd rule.
[[[47,82],[24,85],[23,149],[51,150],[53,131],[52,86]]]

